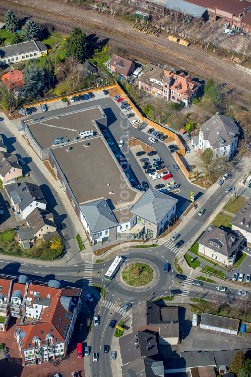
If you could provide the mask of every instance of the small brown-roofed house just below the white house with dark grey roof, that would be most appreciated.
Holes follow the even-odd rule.
[[[38,208],[35,208],[26,217],[26,221],[34,235],[34,239],[42,238],[44,234],[55,232],[57,229],[52,213],[38,211]]]

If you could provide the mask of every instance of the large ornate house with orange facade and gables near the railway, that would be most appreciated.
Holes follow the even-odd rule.
[[[193,81],[191,75],[185,75],[184,72],[178,75],[173,67],[167,64],[159,67],[148,63],[139,77],[139,89],[166,101],[176,103],[183,101],[185,107],[191,105],[199,87],[200,84]]]

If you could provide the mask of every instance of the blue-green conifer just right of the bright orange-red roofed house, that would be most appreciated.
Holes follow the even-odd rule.
[[[31,63],[29,67],[24,70],[23,81],[26,83],[24,94],[26,97],[36,98],[43,89],[44,83],[42,80],[44,71],[42,67]]]

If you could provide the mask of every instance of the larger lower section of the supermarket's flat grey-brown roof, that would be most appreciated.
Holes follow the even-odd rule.
[[[72,124],[75,123],[72,121]],[[84,204],[106,198],[112,202],[113,209],[135,202],[141,194],[129,187],[124,189],[122,170],[119,169],[110,148],[101,136],[88,139],[88,142],[90,145],[86,148],[85,141],[71,144],[70,152],[66,152],[66,147],[52,149],[78,203]],[[127,199],[123,200],[125,190]]]

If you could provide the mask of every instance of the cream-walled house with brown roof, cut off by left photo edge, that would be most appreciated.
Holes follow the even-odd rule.
[[[0,152],[0,179],[3,183],[13,181],[23,175],[23,170],[18,164],[16,155],[8,152]]]

